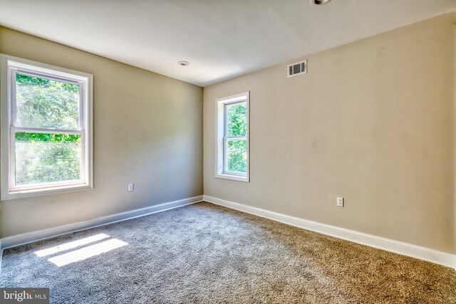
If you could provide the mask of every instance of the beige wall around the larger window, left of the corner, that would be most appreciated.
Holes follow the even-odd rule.
[[[95,177],[1,201],[1,237],[202,194],[202,88],[1,27],[0,53],[93,74]]]

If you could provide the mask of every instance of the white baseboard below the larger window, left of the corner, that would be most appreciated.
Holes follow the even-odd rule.
[[[111,214],[108,216],[98,217],[97,219],[89,219],[87,221],[79,221],[77,223],[53,227],[49,229],[43,229],[38,231],[26,232],[25,234],[17,234],[15,236],[7,236],[6,238],[0,239],[0,251],[3,249],[24,245],[26,243],[32,243],[34,241],[40,241],[43,239],[53,238],[55,236],[61,236],[63,234],[70,234],[72,232],[95,228],[98,226],[108,225],[117,223],[118,221],[127,221],[128,219],[135,219],[140,216],[146,216],[149,214],[155,214],[157,212],[175,209],[190,204],[195,204],[202,201],[202,195],[190,197],[188,199],[180,199],[177,201],[170,201],[164,204],[158,204],[149,206],[141,209],[135,209],[131,211],[125,211],[118,214]],[[1,255],[3,256],[3,255]],[[0,256],[0,263],[1,263]],[[1,269],[1,268],[0,268]]]

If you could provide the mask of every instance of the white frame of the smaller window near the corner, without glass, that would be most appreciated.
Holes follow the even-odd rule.
[[[217,133],[216,133],[216,144],[217,144],[217,157],[215,163],[215,177],[221,179],[232,179],[239,182],[250,182],[250,139],[249,139],[249,116],[250,116],[250,93],[244,92],[235,95],[229,95],[223,98],[217,98],[216,100],[216,117],[217,117]],[[245,137],[239,137],[239,139],[247,140],[247,172],[241,174],[239,172],[229,172],[227,168],[227,140],[236,139],[234,137],[227,137],[227,105],[236,103],[247,103],[247,132]]]

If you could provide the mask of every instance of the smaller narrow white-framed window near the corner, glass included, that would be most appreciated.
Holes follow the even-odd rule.
[[[217,99],[216,177],[249,182],[249,92]]]

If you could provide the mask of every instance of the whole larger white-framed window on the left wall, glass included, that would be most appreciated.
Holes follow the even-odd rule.
[[[93,187],[93,76],[0,59],[1,199]]]

